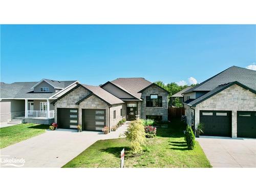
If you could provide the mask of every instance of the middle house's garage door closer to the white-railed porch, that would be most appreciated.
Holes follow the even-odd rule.
[[[57,118],[58,128],[76,129],[78,124],[78,109],[58,108]]]

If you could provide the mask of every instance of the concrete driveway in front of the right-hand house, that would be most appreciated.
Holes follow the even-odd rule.
[[[256,167],[256,139],[197,138],[213,167]]]

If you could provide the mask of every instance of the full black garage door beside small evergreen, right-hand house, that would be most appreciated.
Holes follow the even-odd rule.
[[[205,136],[231,136],[230,111],[200,111],[200,122],[204,123]]]

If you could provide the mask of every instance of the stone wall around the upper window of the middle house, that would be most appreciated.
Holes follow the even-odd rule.
[[[158,94],[158,96],[162,96],[163,103],[162,107],[146,107],[146,96],[150,96],[151,94]],[[141,98],[143,101],[141,102],[141,117],[142,119],[146,118],[146,115],[161,115],[163,121],[168,120],[168,93],[158,86],[151,86],[150,88],[144,90],[141,94]]]

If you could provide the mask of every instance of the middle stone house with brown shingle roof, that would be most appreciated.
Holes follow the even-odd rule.
[[[60,128],[101,131],[122,118],[167,121],[168,92],[144,78],[118,78],[101,86],[78,84],[56,98],[55,122]]]

